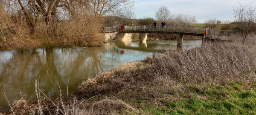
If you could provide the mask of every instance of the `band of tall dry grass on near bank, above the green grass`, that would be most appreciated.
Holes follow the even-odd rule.
[[[212,43],[189,52],[166,52],[159,58],[119,66],[84,81],[78,95],[87,98],[131,86],[152,91],[168,90],[177,84],[189,83],[216,85],[234,81],[253,86],[255,69],[256,54],[247,46]]]

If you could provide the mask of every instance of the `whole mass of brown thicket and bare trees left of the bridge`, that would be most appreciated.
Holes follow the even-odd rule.
[[[0,49],[101,46],[104,17],[132,6],[132,0],[2,0]]]

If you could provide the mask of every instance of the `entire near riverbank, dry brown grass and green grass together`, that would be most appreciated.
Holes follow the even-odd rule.
[[[6,114],[253,114],[255,77],[247,46],[212,43],[125,63],[85,80],[69,98],[20,100]]]

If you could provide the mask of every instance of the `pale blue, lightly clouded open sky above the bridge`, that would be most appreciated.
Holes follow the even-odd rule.
[[[172,14],[195,16],[198,23],[216,18],[232,21],[233,7],[241,3],[256,4],[256,0],[135,0],[134,13],[137,18],[152,17],[161,6],[169,8]]]

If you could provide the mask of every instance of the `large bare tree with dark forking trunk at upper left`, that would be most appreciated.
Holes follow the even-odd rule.
[[[43,18],[48,26],[52,20],[58,20],[58,15],[69,11],[72,14],[79,0],[4,0],[10,11],[20,12],[26,22],[35,31],[39,18]],[[86,1],[86,0],[85,0]]]

